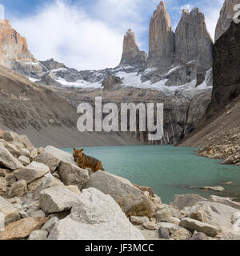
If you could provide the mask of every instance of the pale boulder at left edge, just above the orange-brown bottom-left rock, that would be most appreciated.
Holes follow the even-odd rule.
[[[10,222],[16,222],[20,215],[18,214],[18,210],[12,206],[10,202],[7,202],[6,199],[0,196],[0,213],[4,214],[5,224],[9,224]]]

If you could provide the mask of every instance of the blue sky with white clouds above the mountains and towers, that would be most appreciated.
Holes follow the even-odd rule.
[[[117,66],[126,30],[148,51],[148,27],[160,0],[0,0],[5,17],[27,38],[39,60],[54,58],[78,70]],[[173,29],[182,9],[197,6],[212,37],[224,0],[166,0]]]

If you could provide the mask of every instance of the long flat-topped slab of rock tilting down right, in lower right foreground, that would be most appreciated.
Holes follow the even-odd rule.
[[[186,230],[202,232],[210,237],[215,237],[220,230],[217,226],[213,226],[204,222],[198,222],[192,218],[182,218],[179,226],[184,227]]]

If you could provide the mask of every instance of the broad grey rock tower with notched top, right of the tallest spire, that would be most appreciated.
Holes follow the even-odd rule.
[[[206,29],[204,14],[194,8],[182,10],[182,18],[175,31],[175,63],[185,65],[197,61],[209,70],[213,64],[213,42]]]

